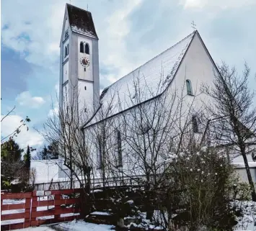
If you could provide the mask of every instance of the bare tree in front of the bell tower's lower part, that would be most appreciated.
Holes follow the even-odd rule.
[[[81,124],[84,124],[93,112],[89,112],[87,105],[79,104],[76,97],[79,92],[76,91],[76,86],[72,87],[72,94],[66,90],[63,99],[58,100],[58,112],[53,107],[53,114],[43,125],[43,131],[37,131],[43,135],[46,142],[56,144],[58,150],[53,151],[58,153],[63,165],[69,168],[71,187],[73,179],[76,178],[81,186],[89,190],[92,162],[89,150],[84,144]]]

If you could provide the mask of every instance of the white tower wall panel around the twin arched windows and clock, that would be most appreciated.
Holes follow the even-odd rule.
[[[88,43],[89,45],[89,55],[87,55],[86,53],[80,53],[80,42],[84,42],[84,43]],[[83,80],[87,80],[87,81],[93,81],[93,71],[92,71],[92,39],[90,39],[89,37],[81,37],[78,36],[78,42],[77,42],[77,50],[78,50],[78,62],[80,60],[80,58],[82,57],[86,57],[89,59],[90,61],[90,65],[89,68],[86,68],[86,71],[84,71],[84,67],[80,64],[79,62],[79,67],[78,67],[78,78],[81,78]]]

